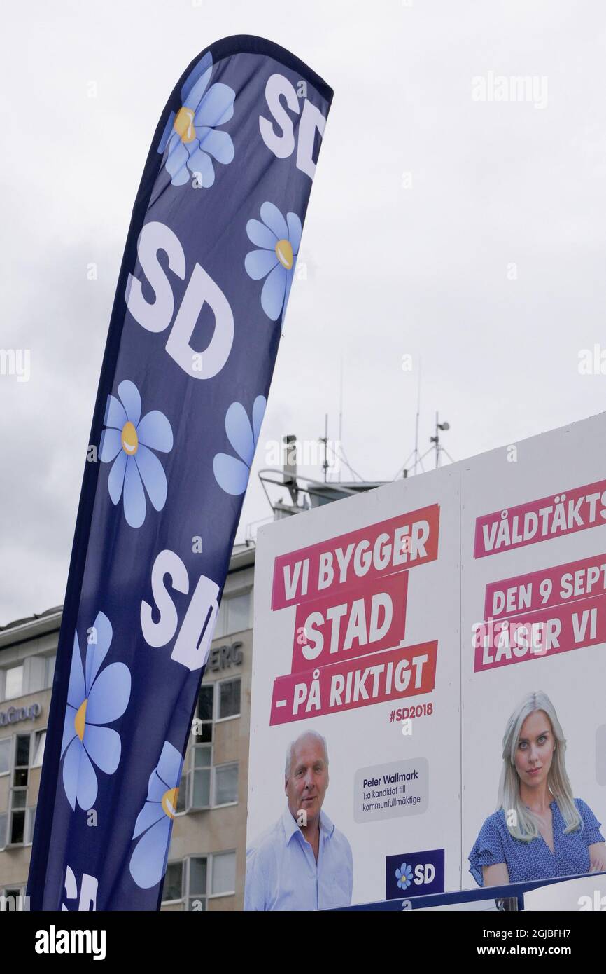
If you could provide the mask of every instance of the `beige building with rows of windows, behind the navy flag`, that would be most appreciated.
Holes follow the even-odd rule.
[[[254,546],[236,545],[198,694],[162,910],[241,910]],[[0,909],[23,909],[61,609],[0,629]]]

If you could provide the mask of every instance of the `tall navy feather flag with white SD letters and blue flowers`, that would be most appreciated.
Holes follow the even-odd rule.
[[[32,910],[157,910],[183,755],[333,92],[258,37],[211,45],[135,201],[56,656]]]

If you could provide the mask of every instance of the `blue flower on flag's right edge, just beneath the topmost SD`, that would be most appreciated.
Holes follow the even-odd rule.
[[[272,203],[263,204],[261,219],[263,223],[249,220],[246,224],[249,241],[262,249],[250,250],[244,267],[253,281],[267,277],[261,291],[261,307],[267,318],[277,321],[288,303],[303,226],[297,213],[287,213],[284,219]]]

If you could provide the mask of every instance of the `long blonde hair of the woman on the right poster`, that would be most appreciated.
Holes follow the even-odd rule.
[[[521,726],[526,717],[534,713],[535,710],[545,711],[555,737],[555,751],[552,757],[552,767],[548,772],[547,784],[564,819],[566,825],[564,832],[575,832],[577,829],[583,828],[583,820],[574,803],[572,785],[564,764],[564,752],[566,750],[564,732],[547,693],[540,690],[535,691],[529,693],[517,704],[514,713],[507,722],[503,737],[503,770],[499,784],[499,809],[502,808],[505,812],[505,820],[510,835],[514,839],[526,843],[536,839],[540,833],[537,818],[529,808],[522,804],[519,797],[516,751]]]

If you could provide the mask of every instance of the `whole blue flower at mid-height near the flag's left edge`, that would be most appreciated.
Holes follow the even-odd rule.
[[[133,382],[125,380],[118,387],[120,399],[108,395],[101,435],[99,460],[114,462],[107,478],[113,504],[123,495],[126,522],[140,528],[145,520],[145,493],[156,510],[166,503],[166,474],[152,450],[172,450],[172,430],[163,413],[157,409],[141,417],[141,396]],[[122,401],[121,401],[122,400]],[[139,422],[140,421],[140,422]]]

